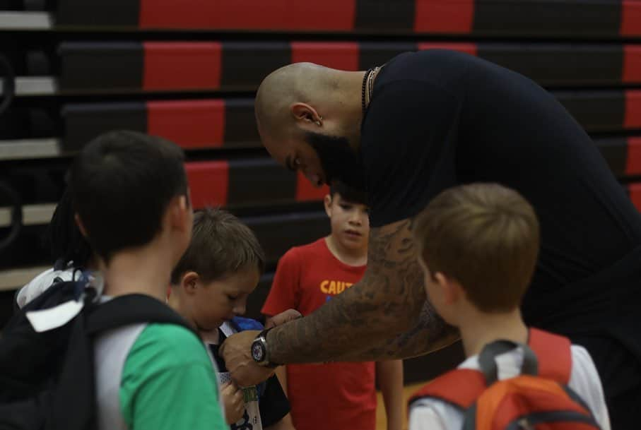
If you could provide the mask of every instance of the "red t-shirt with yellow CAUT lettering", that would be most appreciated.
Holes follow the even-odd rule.
[[[365,266],[339,261],[325,239],[290,249],[278,261],[265,315],[308,315],[358,282]],[[331,330],[331,326],[327,330]],[[287,390],[296,430],[374,430],[375,363],[288,364]]]

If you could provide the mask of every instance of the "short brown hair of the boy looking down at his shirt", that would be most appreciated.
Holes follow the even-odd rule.
[[[172,271],[173,285],[188,271],[204,282],[236,273],[254,265],[262,273],[265,254],[247,225],[226,210],[205,208],[194,213],[194,230],[189,248]]]

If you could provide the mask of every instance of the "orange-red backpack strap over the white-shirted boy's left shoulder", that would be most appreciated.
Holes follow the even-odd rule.
[[[425,384],[409,399],[411,406],[422,398],[435,398],[450,405],[467,409],[486,389],[486,380],[480,371],[474,369],[454,369]]]

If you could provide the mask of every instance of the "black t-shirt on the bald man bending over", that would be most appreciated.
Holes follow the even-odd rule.
[[[541,251],[523,306],[528,323],[577,321],[587,301],[599,301],[594,294],[616,296],[615,288],[639,297],[637,275],[634,286],[583,291],[641,245],[641,217],[587,133],[528,78],[459,52],[401,54],[378,74],[361,131],[372,227],[413,217],[469,182],[498,182],[531,202]],[[607,315],[601,321],[616,318],[596,310]]]

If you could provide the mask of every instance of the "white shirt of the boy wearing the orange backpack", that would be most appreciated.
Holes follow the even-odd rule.
[[[498,378],[513,378],[519,374],[523,363],[523,349],[518,348],[496,357]],[[478,355],[466,359],[459,369],[480,369]],[[592,357],[584,347],[572,345],[572,371],[568,386],[575,391],[594,414],[602,430],[610,430],[610,418]],[[437,399],[425,398],[413,402],[409,430],[460,430],[463,427],[463,412]]]

